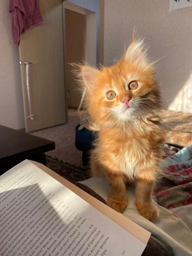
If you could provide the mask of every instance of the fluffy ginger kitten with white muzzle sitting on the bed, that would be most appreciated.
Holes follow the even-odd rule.
[[[108,204],[118,212],[128,205],[126,183],[136,186],[137,209],[156,221],[152,202],[154,182],[162,158],[162,129],[158,111],[161,98],[143,41],[135,41],[123,58],[110,67],[80,66],[79,78],[86,85],[86,105],[91,122],[99,127],[91,153],[92,175],[105,174]]]

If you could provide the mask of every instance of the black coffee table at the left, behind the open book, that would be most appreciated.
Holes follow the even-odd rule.
[[[46,164],[44,153],[52,149],[53,141],[0,125],[0,175],[25,159]]]

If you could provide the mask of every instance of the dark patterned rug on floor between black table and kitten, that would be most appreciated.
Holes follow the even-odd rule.
[[[49,169],[55,171],[69,181],[82,181],[91,177],[89,170],[68,164],[52,156],[46,155],[46,163]]]

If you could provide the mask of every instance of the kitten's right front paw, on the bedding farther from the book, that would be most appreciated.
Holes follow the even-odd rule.
[[[138,211],[147,220],[150,220],[150,221],[154,222],[158,219],[159,210],[152,203],[150,205],[147,205],[147,204],[143,205],[143,204],[136,201],[135,204],[137,206]]]

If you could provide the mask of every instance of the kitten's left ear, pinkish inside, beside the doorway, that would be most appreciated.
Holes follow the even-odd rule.
[[[81,68],[81,76],[83,77],[83,81],[88,88],[96,85],[96,81],[99,75],[100,71],[96,68],[92,68],[90,66],[83,66]]]

